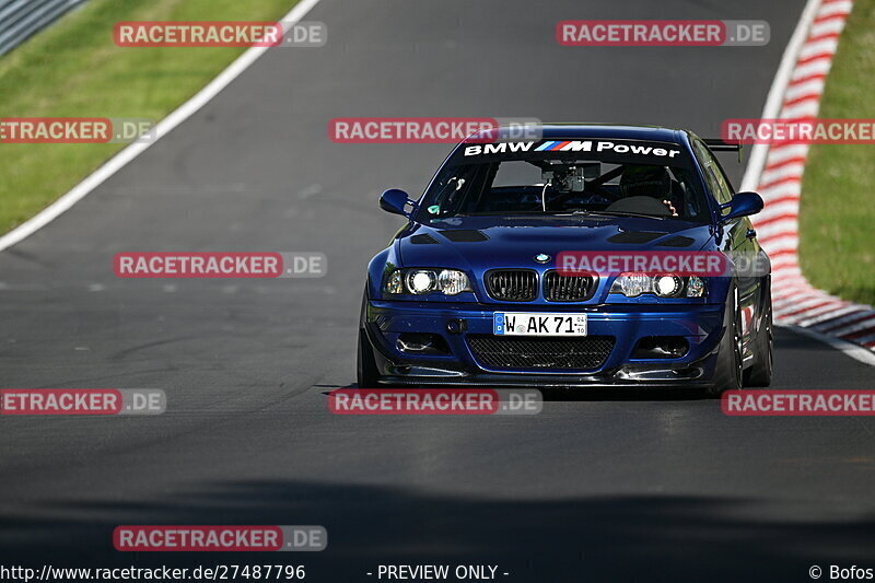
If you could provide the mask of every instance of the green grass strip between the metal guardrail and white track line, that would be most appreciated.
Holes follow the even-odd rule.
[[[276,21],[296,0],[90,0],[0,57],[0,117],[155,121],[243,48],[121,48],[118,21]],[[124,144],[0,143],[0,233],[34,215]]]

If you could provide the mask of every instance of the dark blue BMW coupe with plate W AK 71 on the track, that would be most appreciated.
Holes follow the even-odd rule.
[[[359,387],[769,385],[770,275],[748,219],[762,199],[735,193],[713,153],[739,147],[658,127],[535,129],[458,144],[418,201],[383,194],[407,223],[368,268]],[[576,252],[719,253],[730,269],[563,270]]]

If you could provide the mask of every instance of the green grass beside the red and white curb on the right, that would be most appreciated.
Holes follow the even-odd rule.
[[[875,0],[856,0],[821,118],[875,119]],[[814,145],[803,176],[800,260],[810,282],[875,303],[875,145]]]

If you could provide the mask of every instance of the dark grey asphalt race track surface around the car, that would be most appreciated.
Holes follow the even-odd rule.
[[[809,581],[875,567],[875,420],[732,418],[584,393],[532,417],[339,417],[366,261],[450,149],[339,144],[343,116],[688,127],[758,117],[802,0],[324,0],[323,48],[270,50],[72,210],[0,254],[0,385],[163,388],[159,417],[2,418],[0,562],[121,553],[119,524],[320,524],[312,581],[493,563],[506,581]],[[206,15],[205,15],[206,16]],[[767,47],[561,47],[565,19],[767,20]],[[170,50],[170,49],[168,49]],[[131,115],[136,115],[132,112]],[[743,166],[725,163],[737,183]],[[47,168],[46,172],[51,172]],[[320,252],[323,279],[122,280],[118,252]],[[775,388],[875,388],[781,330]],[[550,579],[552,578],[552,579]],[[825,576],[826,579],[826,576]]]

